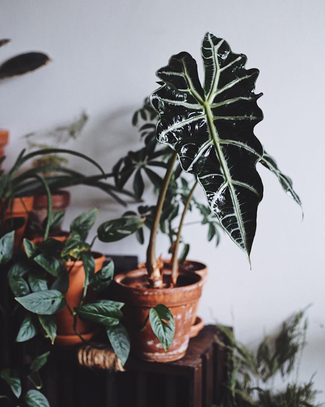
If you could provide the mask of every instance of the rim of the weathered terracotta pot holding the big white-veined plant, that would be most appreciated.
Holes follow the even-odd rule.
[[[168,274],[170,272],[169,269],[163,269],[164,274]],[[134,277],[139,277],[143,275],[147,275],[147,269],[145,267],[128,271],[127,273],[121,273],[117,274],[117,276],[114,277],[114,282],[118,284],[119,286],[123,287],[125,290],[129,290],[132,293],[139,293],[140,295],[151,295],[151,294],[156,294],[156,295],[173,295],[173,293],[179,292],[184,292],[184,291],[194,291],[198,287],[201,287],[203,284],[202,277],[199,274],[195,274],[192,271],[186,272],[186,271],[181,271],[180,276],[187,276],[191,278],[192,280],[196,280],[192,284],[184,285],[181,287],[165,287],[165,288],[148,288],[148,287],[132,287],[127,284],[123,284],[122,280],[126,277],[131,277],[134,275]]]

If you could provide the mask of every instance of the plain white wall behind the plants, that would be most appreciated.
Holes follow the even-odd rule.
[[[260,69],[256,91],[264,93],[259,105],[265,118],[255,133],[293,178],[305,217],[301,222],[297,204],[260,168],[264,199],[252,270],[227,236],[215,249],[206,243],[206,228],[188,227],[190,257],[210,269],[199,313],[206,322],[213,315],[234,324],[237,337],[253,346],[264,331],[272,333],[313,303],[300,377],[309,380],[317,371],[319,389],[325,381],[324,12],[321,0],[2,0],[0,5],[0,37],[12,39],[1,48],[1,59],[27,50],[52,57],[46,68],[1,83],[0,123],[11,131],[6,166],[24,147],[23,134],[65,123],[87,109],[91,119],[82,138],[68,147],[110,170],[121,154],[138,146],[130,120],[156,88],[156,69],[183,50],[200,66],[200,42],[208,30],[227,39],[234,52],[245,53],[248,68]],[[93,173],[88,164],[70,162]],[[151,194],[147,198],[154,202]],[[75,188],[66,223],[93,206],[101,210],[99,221],[124,210],[97,191]],[[165,243],[159,240],[158,252],[165,253]],[[97,247],[144,259],[145,248],[132,238]]]

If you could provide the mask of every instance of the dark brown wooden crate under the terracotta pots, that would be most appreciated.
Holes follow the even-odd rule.
[[[130,358],[126,372],[79,366],[76,348],[52,349],[43,368],[43,392],[51,407],[211,407],[220,399],[225,379],[220,333],[206,326],[190,340],[183,359],[150,363]]]

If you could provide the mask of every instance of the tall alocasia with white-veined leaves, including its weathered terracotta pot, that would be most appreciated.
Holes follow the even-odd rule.
[[[150,361],[180,359],[188,346],[202,278],[179,270],[178,248],[184,216],[195,188],[200,185],[204,189],[210,211],[248,260],[257,208],[263,197],[256,165],[260,162],[275,173],[286,193],[301,204],[291,180],[265,153],[253,132],[263,118],[257,105],[262,94],[254,93],[258,70],[246,70],[245,55],[232,53],[228,43],[212,33],[204,36],[201,52],[203,86],[196,62],[186,52],[173,55],[168,65],[157,71],[160,88],[150,95],[150,103],[159,116],[156,140],[167,147],[156,152],[156,142],[146,138],[145,148],[137,155],[141,165],[151,162],[165,166],[166,173],[160,182],[146,171],[159,187],[158,201],[152,212],[146,265],[127,276],[115,277],[117,298],[125,303],[124,318],[133,352]],[[163,165],[154,162],[163,155],[167,156],[167,162]],[[193,174],[194,180],[184,199],[169,270],[163,260],[156,258],[155,246],[176,162],[181,171]],[[113,172],[117,182],[123,185],[134,171],[132,165],[136,167],[132,153],[116,164]],[[132,171],[125,168],[127,166]],[[134,185],[141,193],[141,167],[136,168]]]

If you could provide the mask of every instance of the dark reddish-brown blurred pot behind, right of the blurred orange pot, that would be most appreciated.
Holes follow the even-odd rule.
[[[69,191],[58,190],[52,193],[52,210],[53,212],[58,212],[59,210],[66,210],[70,204],[70,193]],[[42,224],[43,220],[48,214],[48,197],[46,195],[35,195],[33,210],[30,213],[30,224],[36,222],[39,225]],[[61,228],[52,231],[51,236],[56,236]],[[36,236],[35,232],[28,228],[28,236],[33,238]]]

